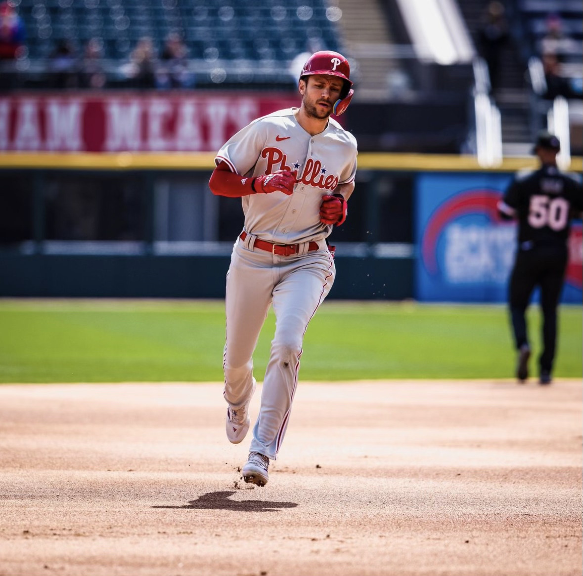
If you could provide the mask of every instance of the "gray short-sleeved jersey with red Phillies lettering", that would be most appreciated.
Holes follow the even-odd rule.
[[[354,181],[356,139],[338,122],[310,136],[287,108],[262,116],[224,144],[215,158],[245,177],[276,170],[296,172],[291,196],[283,192],[243,196],[245,230],[263,240],[293,244],[326,238],[331,226],[319,221],[322,195]]]

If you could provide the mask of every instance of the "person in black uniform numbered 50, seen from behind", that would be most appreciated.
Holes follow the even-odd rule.
[[[539,356],[539,382],[550,384],[557,339],[557,306],[567,268],[567,239],[571,220],[581,217],[583,187],[557,168],[559,139],[540,132],[533,152],[540,168],[518,173],[508,186],[498,210],[503,218],[517,218],[518,247],[509,290],[510,317],[518,349],[517,378],[528,379],[526,308],[536,286],[540,287],[543,313],[542,343]]]

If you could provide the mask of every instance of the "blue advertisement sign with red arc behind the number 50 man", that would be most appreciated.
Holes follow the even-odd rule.
[[[427,172],[416,182],[416,298],[507,302],[517,225],[498,215],[512,174]],[[581,303],[581,226],[570,239],[563,302]]]

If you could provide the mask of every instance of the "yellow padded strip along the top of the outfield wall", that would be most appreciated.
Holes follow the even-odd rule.
[[[215,153],[0,153],[0,169],[52,169],[52,170],[212,170]],[[364,152],[358,157],[359,169],[388,171],[493,171],[514,172],[522,168],[535,168],[535,157],[504,158],[494,168],[480,166],[475,156],[455,154],[398,154]],[[571,158],[569,168],[573,172],[583,170],[583,157]]]

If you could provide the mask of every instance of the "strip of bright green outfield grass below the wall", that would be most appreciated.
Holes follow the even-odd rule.
[[[536,355],[538,307],[529,319]],[[254,356],[260,381],[274,322]],[[223,344],[223,302],[0,300],[2,383],[220,381]],[[581,378],[582,348],[582,308],[563,306],[556,377]],[[511,378],[514,362],[503,306],[329,301],[300,379]]]

